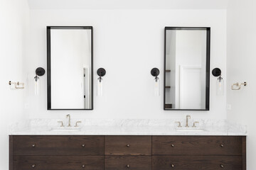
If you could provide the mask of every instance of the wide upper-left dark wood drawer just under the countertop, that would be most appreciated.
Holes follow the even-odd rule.
[[[104,155],[102,136],[14,136],[14,155]]]

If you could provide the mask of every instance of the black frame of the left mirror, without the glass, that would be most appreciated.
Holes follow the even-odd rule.
[[[92,108],[88,109],[80,109],[80,108],[68,108],[68,109],[53,109],[51,108],[51,82],[50,82],[50,30],[51,29],[86,29],[91,30],[91,53],[92,53]],[[47,26],[46,27],[46,34],[47,34],[47,110],[48,111],[91,111],[93,110],[93,28],[92,26]]]

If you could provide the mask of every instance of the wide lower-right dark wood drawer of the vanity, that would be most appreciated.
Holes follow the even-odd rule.
[[[242,170],[240,156],[153,156],[153,170]]]

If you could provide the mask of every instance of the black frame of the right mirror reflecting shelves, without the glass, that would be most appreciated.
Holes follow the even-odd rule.
[[[206,109],[168,109],[166,105],[166,31],[206,30]],[[164,111],[210,111],[210,27],[165,27],[164,28]]]

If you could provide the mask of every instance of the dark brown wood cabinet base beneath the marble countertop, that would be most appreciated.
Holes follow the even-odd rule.
[[[246,170],[245,136],[11,135],[9,170]]]

